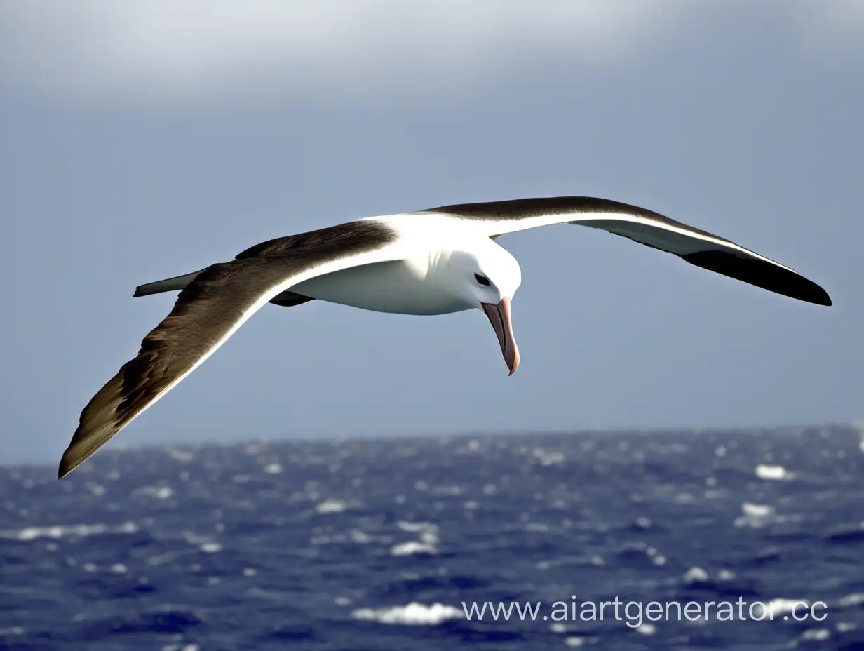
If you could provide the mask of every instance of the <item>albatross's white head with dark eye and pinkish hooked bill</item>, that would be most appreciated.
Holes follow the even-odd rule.
[[[448,289],[454,297],[486,313],[498,335],[510,374],[519,366],[519,349],[513,338],[510,303],[522,283],[522,270],[510,252],[483,239],[472,251],[454,251],[448,258]]]

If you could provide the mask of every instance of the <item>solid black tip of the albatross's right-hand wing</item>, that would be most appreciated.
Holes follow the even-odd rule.
[[[832,304],[828,292],[812,280],[766,260],[744,258],[724,251],[699,251],[681,257],[691,265],[716,271],[729,278],[797,298],[799,301],[825,306]]]

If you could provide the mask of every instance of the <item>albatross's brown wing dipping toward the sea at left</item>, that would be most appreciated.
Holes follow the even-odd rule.
[[[315,231],[305,246],[271,246],[201,271],[81,412],[60,460],[67,475],[213,354],[271,298],[309,278],[403,258],[396,231],[359,220]],[[297,243],[295,243],[297,244]]]

